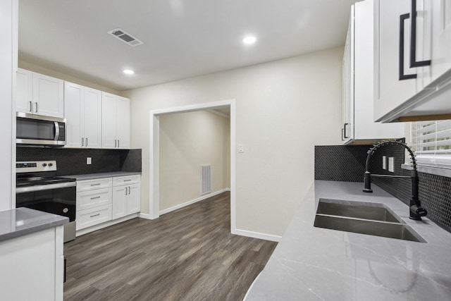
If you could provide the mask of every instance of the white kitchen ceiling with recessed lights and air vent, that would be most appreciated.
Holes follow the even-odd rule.
[[[338,47],[354,2],[19,0],[19,59],[134,89]],[[107,34],[118,27],[144,44]],[[258,40],[245,46],[249,34]]]

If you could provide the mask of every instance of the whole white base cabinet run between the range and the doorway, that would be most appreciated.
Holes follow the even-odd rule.
[[[77,231],[139,212],[140,182],[140,175],[78,180]]]

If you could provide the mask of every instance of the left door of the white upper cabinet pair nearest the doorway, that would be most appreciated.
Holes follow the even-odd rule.
[[[116,148],[116,95],[101,94],[101,147]]]

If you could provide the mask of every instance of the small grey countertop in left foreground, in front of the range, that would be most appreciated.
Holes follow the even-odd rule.
[[[25,207],[0,211],[0,242],[64,225],[69,219]]]

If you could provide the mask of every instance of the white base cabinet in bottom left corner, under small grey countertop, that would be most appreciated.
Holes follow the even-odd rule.
[[[0,300],[63,300],[63,226],[0,242]]]

